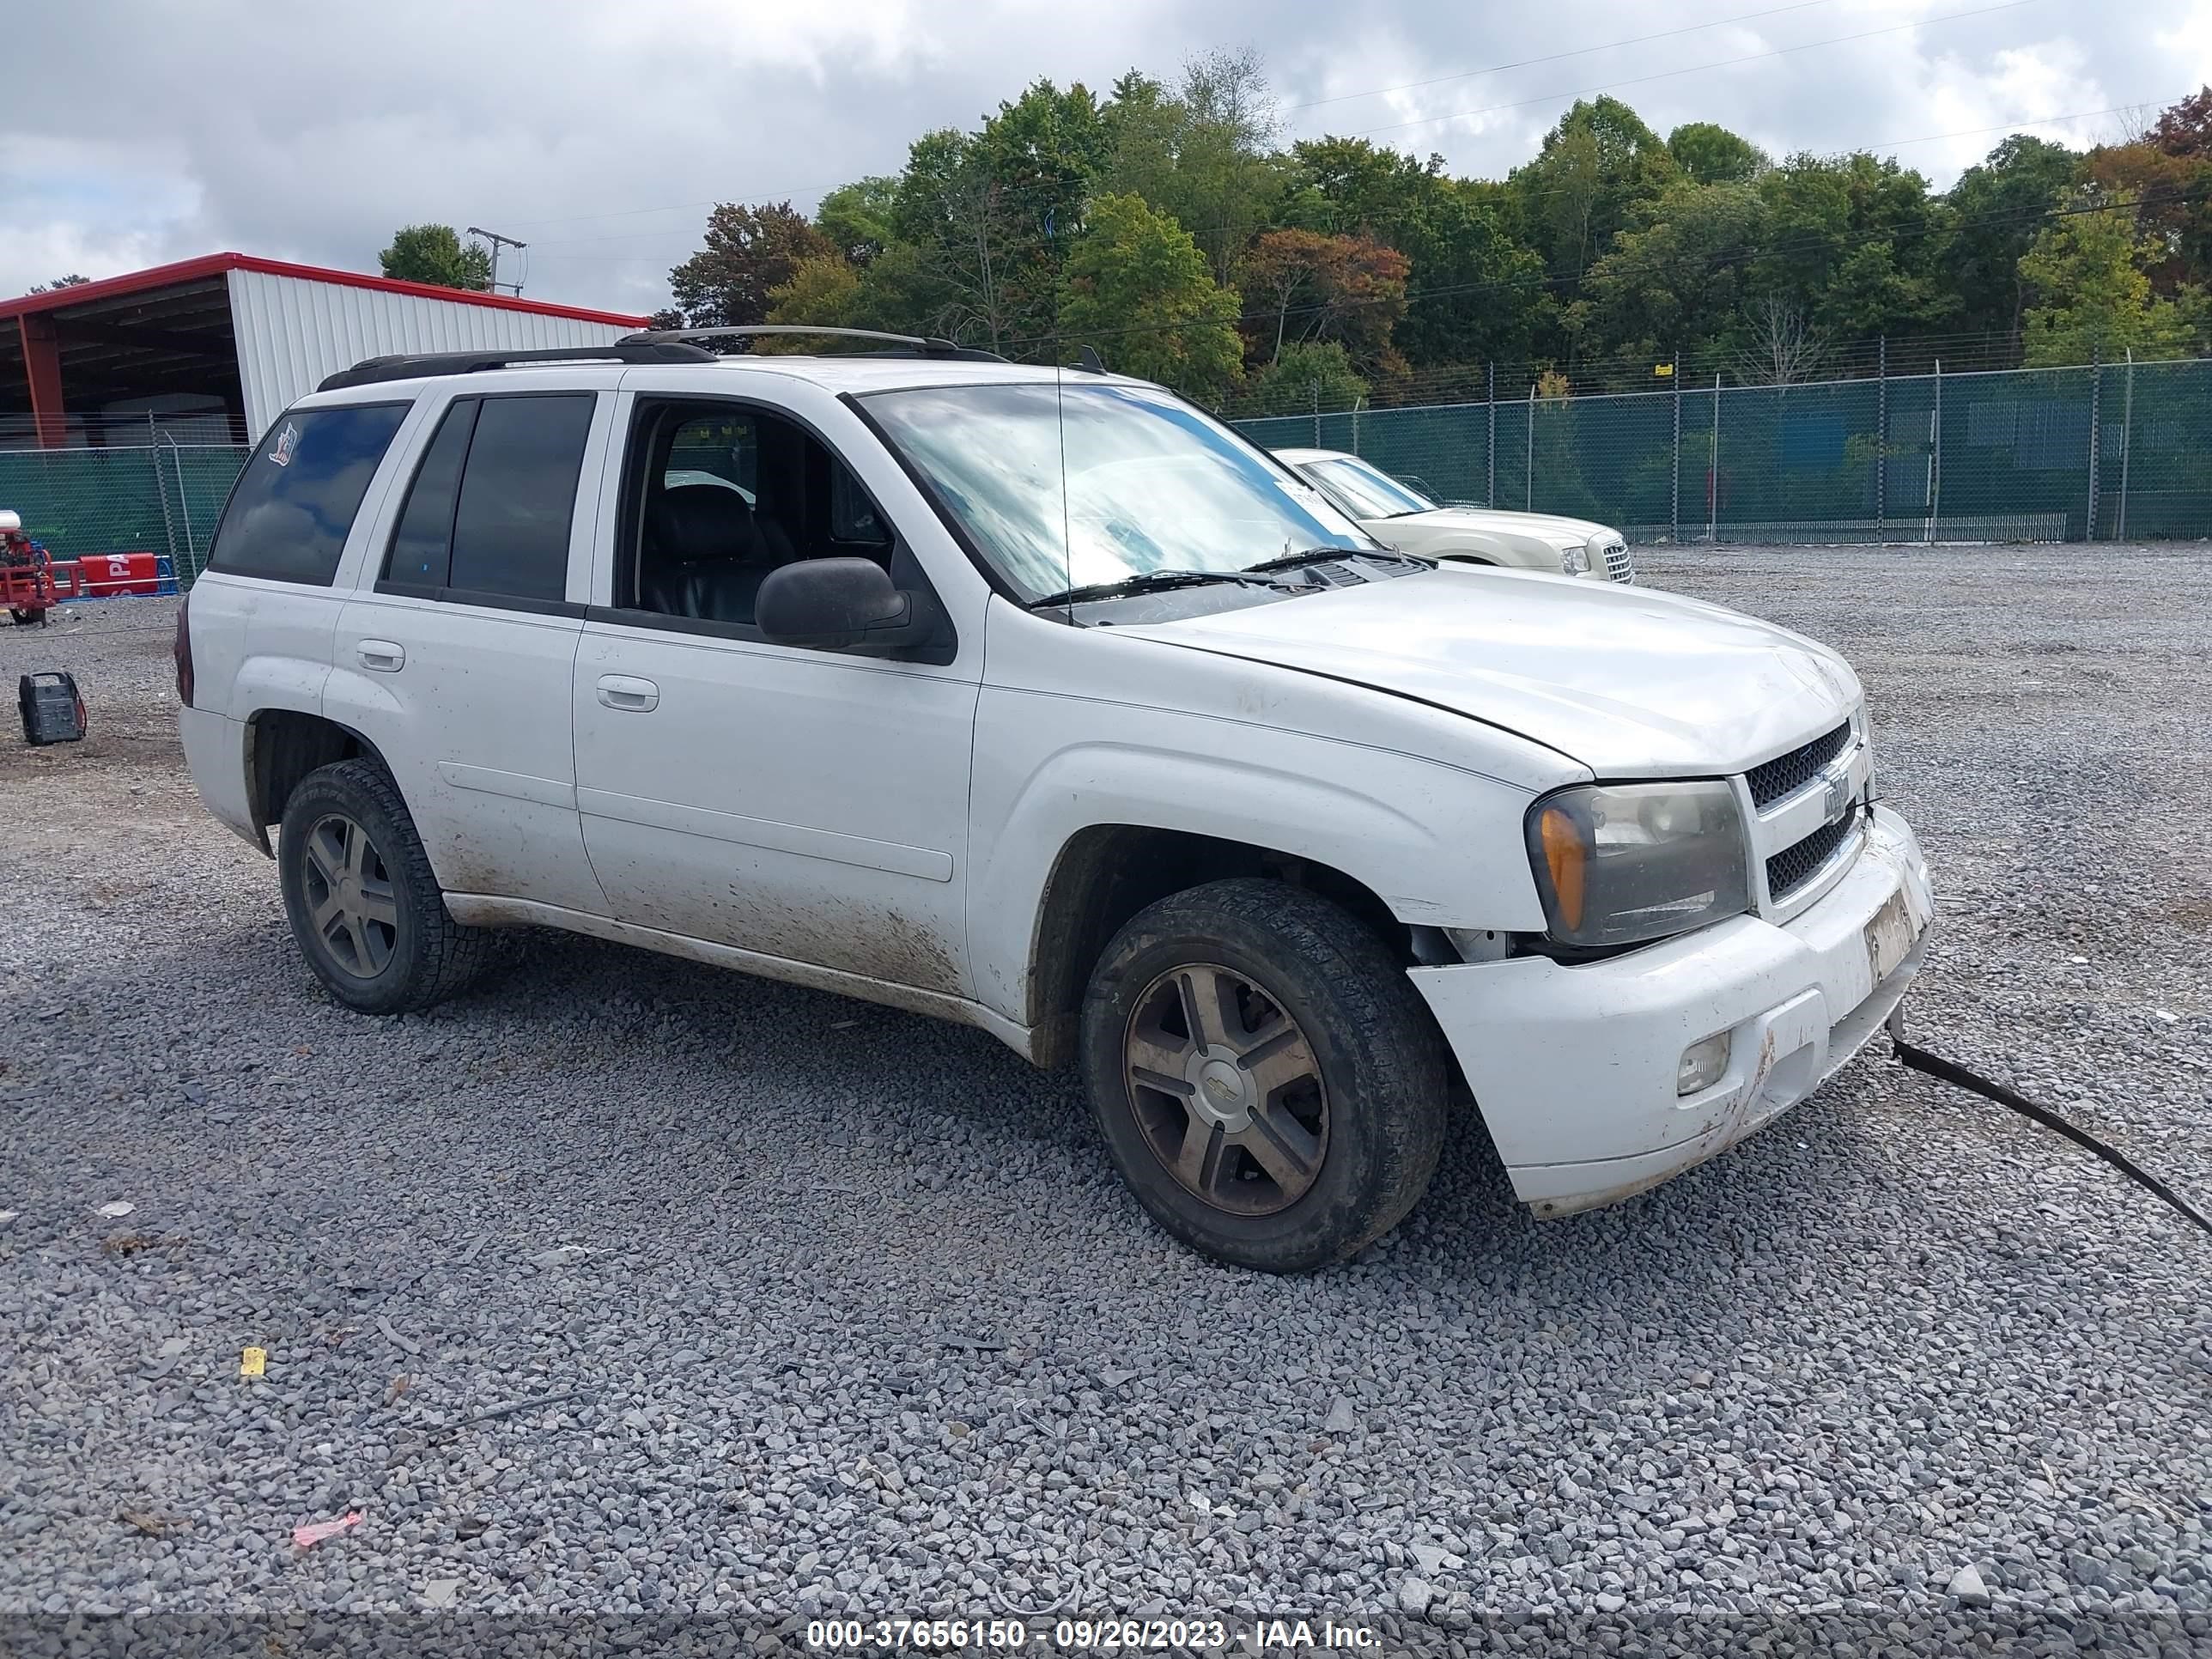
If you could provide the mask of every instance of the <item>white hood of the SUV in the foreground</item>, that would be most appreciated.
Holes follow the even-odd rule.
[[[1124,628],[1416,697],[1604,779],[1741,772],[1858,706],[1858,675],[1787,628],[1650,588],[1440,566]]]

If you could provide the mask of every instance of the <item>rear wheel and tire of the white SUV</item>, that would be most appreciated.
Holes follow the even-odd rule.
[[[376,761],[301,779],[276,834],[276,874],[301,956],[349,1009],[414,1013],[484,964],[489,933],[447,914],[407,803]]]

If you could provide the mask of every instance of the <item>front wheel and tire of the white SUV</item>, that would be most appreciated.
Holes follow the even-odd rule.
[[[1091,973],[1082,1073],[1137,1201],[1237,1267],[1345,1261],[1420,1203],[1444,1144],[1420,993],[1345,909],[1281,880],[1139,911]]]

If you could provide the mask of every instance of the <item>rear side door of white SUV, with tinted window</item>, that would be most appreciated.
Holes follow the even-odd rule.
[[[429,411],[338,617],[325,710],[392,765],[440,887],[602,914],[568,681],[613,396],[564,380],[471,378]]]

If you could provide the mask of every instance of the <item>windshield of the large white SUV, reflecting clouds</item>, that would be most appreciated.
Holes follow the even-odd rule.
[[[1031,602],[1148,571],[1374,546],[1312,484],[1152,387],[956,385],[865,403]]]

